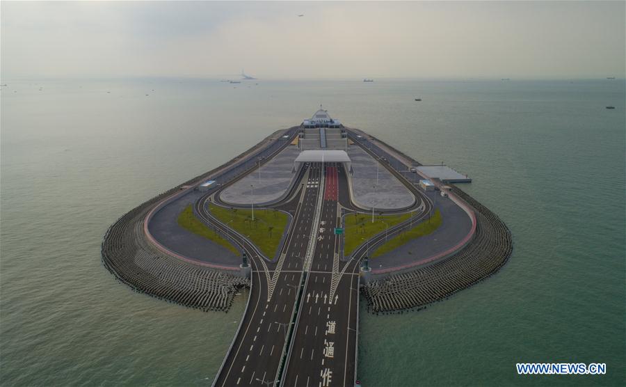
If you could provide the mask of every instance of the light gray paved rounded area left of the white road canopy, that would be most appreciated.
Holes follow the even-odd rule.
[[[296,145],[284,148],[274,159],[261,167],[261,179],[259,171],[253,171],[232,186],[227,187],[220,194],[220,199],[227,203],[246,205],[250,203],[267,203],[280,198],[289,188],[291,180],[296,176],[292,173],[294,160],[300,151]],[[254,195],[252,187],[254,185]]]

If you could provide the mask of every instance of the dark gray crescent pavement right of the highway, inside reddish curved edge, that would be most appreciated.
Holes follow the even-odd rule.
[[[430,235],[413,239],[380,257],[373,258],[371,260],[373,269],[395,267],[431,257],[454,246],[470,232],[472,228],[470,216],[456,203],[449,198],[442,198],[439,191],[428,192],[426,195],[431,200],[435,200],[435,195],[437,196],[435,208],[441,212],[442,225]]]

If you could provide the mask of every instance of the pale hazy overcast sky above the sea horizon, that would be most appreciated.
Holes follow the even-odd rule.
[[[625,76],[625,2],[0,2],[1,77]],[[304,17],[298,17],[303,13]]]

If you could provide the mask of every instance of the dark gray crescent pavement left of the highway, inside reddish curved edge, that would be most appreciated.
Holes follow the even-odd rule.
[[[152,216],[150,233],[152,236],[175,253],[189,258],[211,262],[214,264],[237,265],[241,258],[232,251],[224,248],[209,239],[195,235],[178,225],[178,215],[188,205],[193,205],[202,193],[191,191],[184,197],[173,201],[161,208]]]

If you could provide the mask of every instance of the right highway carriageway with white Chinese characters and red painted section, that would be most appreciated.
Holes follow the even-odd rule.
[[[318,228],[289,360],[281,386],[353,386],[358,309],[358,261],[340,261],[342,166],[330,163]],[[341,178],[339,177],[341,176]]]

